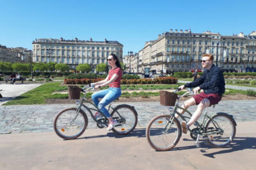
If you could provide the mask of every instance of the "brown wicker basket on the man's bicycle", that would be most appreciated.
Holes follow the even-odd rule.
[[[175,106],[178,94],[167,91],[160,91],[160,104],[163,106]]]

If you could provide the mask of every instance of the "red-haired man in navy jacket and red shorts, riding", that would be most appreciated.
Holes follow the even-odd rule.
[[[212,104],[218,104],[221,101],[221,96],[225,92],[223,73],[219,67],[213,64],[213,59],[213,55],[205,53],[201,60],[202,67],[205,69],[204,74],[195,81],[179,87],[181,90],[184,89],[184,87],[196,87],[193,89],[195,96],[185,101],[182,106],[183,108],[188,109],[190,106],[198,105],[188,124],[185,121],[181,123],[182,132],[184,132],[184,134],[186,134],[188,128],[198,120],[205,108]],[[204,90],[204,92],[198,94],[200,90]],[[180,110],[179,112],[183,114],[184,110]],[[179,116],[175,115],[175,117],[178,118]]]

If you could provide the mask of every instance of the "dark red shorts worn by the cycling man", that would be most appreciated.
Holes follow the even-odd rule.
[[[218,104],[219,101],[221,101],[221,96],[219,94],[205,94],[204,92],[201,92],[200,94],[196,94],[193,96],[193,98],[196,101],[196,105],[199,104],[203,99],[208,99],[210,101],[210,106],[212,104]]]

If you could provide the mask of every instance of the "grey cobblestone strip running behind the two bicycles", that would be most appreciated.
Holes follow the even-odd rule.
[[[209,108],[210,113],[226,112],[234,115],[237,122],[256,121],[256,101],[221,101],[215,108]],[[113,106],[121,103],[113,103]],[[135,106],[138,112],[138,127],[147,127],[150,119],[161,113],[169,113],[166,106],[159,102],[127,103]],[[76,104],[52,105],[21,105],[0,106],[0,134],[51,132],[56,114]],[[190,111],[195,111],[192,106]],[[97,128],[90,115],[88,115],[88,129]]]

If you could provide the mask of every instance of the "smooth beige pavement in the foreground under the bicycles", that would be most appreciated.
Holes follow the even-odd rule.
[[[236,138],[227,148],[200,141],[196,148],[182,134],[173,150],[156,152],[145,128],[128,136],[88,129],[65,141],[54,132],[2,134],[0,169],[255,169],[256,122],[238,122]]]

